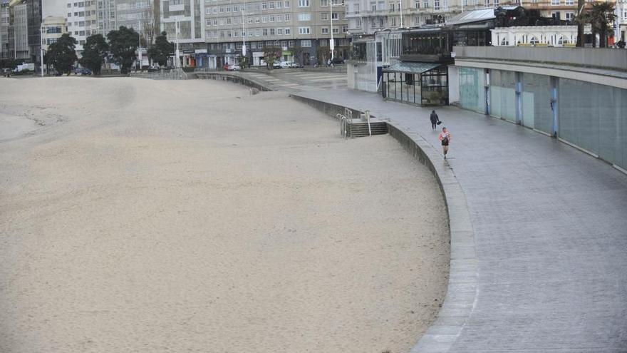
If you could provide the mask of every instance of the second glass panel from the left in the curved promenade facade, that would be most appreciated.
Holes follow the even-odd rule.
[[[516,122],[516,73],[490,70],[490,114]]]

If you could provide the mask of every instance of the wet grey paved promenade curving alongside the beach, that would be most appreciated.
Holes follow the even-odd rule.
[[[343,89],[292,93],[389,118],[434,168],[452,171],[465,195],[457,200],[470,227],[451,230],[474,242],[452,237],[447,299],[415,352],[627,352],[627,175],[540,133],[452,107],[437,108],[452,133],[444,160],[430,108]]]

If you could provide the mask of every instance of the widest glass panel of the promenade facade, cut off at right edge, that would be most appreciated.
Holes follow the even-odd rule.
[[[559,79],[559,137],[627,169],[627,90]]]

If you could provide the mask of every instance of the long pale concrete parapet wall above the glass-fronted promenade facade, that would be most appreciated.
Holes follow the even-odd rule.
[[[610,48],[552,48],[552,47],[495,47],[454,46],[455,59],[485,59],[558,63],[627,71],[627,50]]]

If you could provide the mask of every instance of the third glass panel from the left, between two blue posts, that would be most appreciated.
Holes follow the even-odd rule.
[[[522,74],[522,125],[553,134],[549,76]]]

